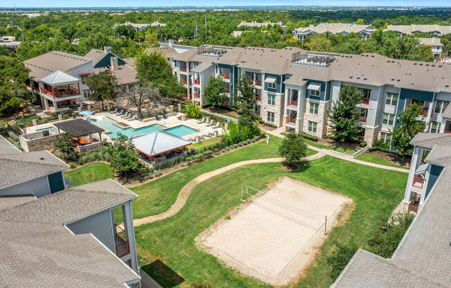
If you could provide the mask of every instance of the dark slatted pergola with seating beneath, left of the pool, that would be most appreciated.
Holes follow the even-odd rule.
[[[104,132],[104,129],[82,118],[64,120],[53,125],[57,127],[58,134],[62,130],[72,136],[73,145],[79,152],[102,146],[102,132]],[[93,134],[98,134],[98,138],[95,138]]]

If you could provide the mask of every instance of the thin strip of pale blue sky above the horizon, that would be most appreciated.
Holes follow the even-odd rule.
[[[132,6],[274,6],[274,5],[333,5],[333,6],[425,6],[430,5],[426,0],[169,0],[169,1],[149,1],[149,0],[0,0],[0,7],[132,7]],[[451,6],[451,0],[436,2],[440,6]]]

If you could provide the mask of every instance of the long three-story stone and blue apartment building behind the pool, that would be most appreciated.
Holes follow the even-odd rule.
[[[360,137],[370,145],[376,138],[389,140],[390,130],[400,125],[399,114],[412,102],[423,106],[418,119],[427,123],[427,132],[451,129],[443,117],[451,101],[449,65],[394,60],[375,53],[317,53],[291,47],[205,45],[167,57],[187,88],[187,100],[205,103],[203,90],[208,80],[216,77],[226,86],[225,104],[233,105],[235,85],[243,75],[254,85],[255,113],[286,131],[324,137],[333,102],[345,85],[355,85],[362,92],[358,125]]]

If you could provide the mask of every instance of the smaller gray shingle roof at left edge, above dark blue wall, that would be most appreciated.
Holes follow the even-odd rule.
[[[68,167],[69,165],[46,150],[0,155],[0,188]]]

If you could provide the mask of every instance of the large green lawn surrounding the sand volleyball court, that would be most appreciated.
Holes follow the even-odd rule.
[[[263,144],[259,143],[259,146]],[[253,150],[261,151],[255,147]],[[248,152],[253,151],[241,153]],[[228,159],[224,157],[222,161]],[[134,189],[134,192],[140,195],[134,201],[134,217],[150,214],[144,213],[145,210],[155,213],[167,201],[163,201],[166,195],[177,195],[181,186],[189,179],[219,165],[216,161],[207,161],[203,165],[196,165],[194,171],[187,168],[148,183],[145,190]],[[217,258],[199,249],[194,238],[240,203],[241,183],[261,189],[270,181],[282,176],[341,192],[355,202],[351,217],[342,226],[333,228],[321,248],[321,255],[317,258],[316,264],[312,265],[306,276],[292,287],[329,287],[333,279],[328,276],[330,267],[324,260],[324,255],[329,255],[333,251],[333,242],[336,240],[346,244],[356,243],[365,249],[369,235],[377,228],[381,217],[389,217],[403,198],[407,181],[407,175],[403,172],[373,168],[332,156],[323,156],[315,161],[302,163],[301,169],[297,172],[283,170],[280,163],[252,164],[230,170],[196,186],[185,206],[173,217],[135,228],[140,266],[163,287],[180,284],[174,273],[167,272],[169,269],[178,273],[185,282],[204,278],[215,288],[268,287],[224,267]],[[163,188],[164,191],[161,191]],[[142,192],[146,192],[145,197],[141,197]],[[161,201],[162,204],[160,207],[148,207],[152,203],[148,202],[146,197],[151,197],[151,201]],[[158,263],[156,260],[165,263],[169,269],[163,269],[164,266],[156,264]]]

